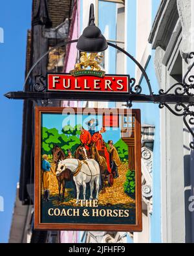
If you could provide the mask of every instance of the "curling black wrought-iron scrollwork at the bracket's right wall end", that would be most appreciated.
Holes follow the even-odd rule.
[[[188,56],[189,59],[194,57],[194,52],[191,52]],[[159,95],[188,95],[189,97],[194,97],[194,75],[189,75],[191,69],[194,67],[194,62],[189,67],[186,75],[184,76],[182,83],[173,84],[167,91],[164,89],[160,89]],[[188,81],[188,82],[187,82]],[[173,91],[174,90],[174,91]],[[173,94],[170,92],[173,91]],[[177,102],[173,106],[169,106],[166,102],[160,102],[159,108],[164,108],[164,106],[173,113],[173,115],[177,115],[178,117],[183,117],[184,124],[186,128],[188,128],[190,134],[194,137],[193,129],[191,128],[194,125],[194,103],[180,103]],[[194,141],[191,141],[189,144],[190,148],[194,150]]]

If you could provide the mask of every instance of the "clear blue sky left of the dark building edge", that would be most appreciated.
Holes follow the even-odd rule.
[[[5,211],[0,212],[0,242],[8,242],[16,198],[23,112],[21,100],[8,100],[3,97],[3,94],[23,89],[26,39],[27,29],[30,29],[31,8],[31,0],[1,1],[0,6],[0,27],[4,30],[4,43],[0,43],[0,196],[3,196],[5,203]]]

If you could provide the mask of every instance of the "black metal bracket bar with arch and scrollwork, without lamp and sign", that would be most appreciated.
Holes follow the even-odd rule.
[[[65,46],[70,43],[76,43],[78,40],[66,41],[59,43],[55,47],[52,47],[49,51],[45,52],[37,62],[32,65],[32,68],[28,72],[27,78],[25,80],[25,85],[27,84],[30,73],[34,67],[44,58],[49,52],[54,49],[58,49],[61,46]],[[142,93],[142,86],[136,84],[135,78],[130,78],[130,90],[129,95],[121,95],[119,93],[64,93],[64,92],[48,92],[46,91],[45,75],[39,76],[39,82],[34,84],[32,91],[12,91],[5,94],[8,99],[23,99],[23,100],[48,100],[48,99],[58,99],[58,100],[103,100],[103,101],[114,101],[114,102],[127,102],[124,106],[131,108],[132,102],[152,102],[158,104],[159,108],[162,109],[166,107],[171,113],[179,117],[183,117],[184,124],[188,128],[191,135],[194,137],[194,132],[192,126],[194,125],[194,75],[190,75],[191,70],[194,67],[193,64],[189,67],[188,72],[184,76],[182,83],[173,84],[167,91],[160,89],[158,94],[154,94],[151,88],[149,78],[147,76],[146,70],[142,65],[133,57],[129,52],[124,49],[108,42],[110,47],[114,47],[120,52],[127,55],[142,71],[142,75],[146,80],[147,88],[149,94]],[[189,58],[194,57],[194,52],[189,54]],[[24,88],[25,88],[24,85]],[[190,148],[194,149],[194,142],[190,143]]]

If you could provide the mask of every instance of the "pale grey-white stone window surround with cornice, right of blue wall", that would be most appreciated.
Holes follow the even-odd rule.
[[[193,31],[193,1],[161,1],[149,36],[160,89],[167,91],[182,82],[192,62]],[[193,138],[182,118],[168,110],[160,112],[160,131],[162,241],[194,242],[193,208],[189,207],[194,181],[189,142]]]

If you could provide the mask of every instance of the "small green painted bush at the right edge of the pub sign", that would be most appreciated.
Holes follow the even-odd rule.
[[[126,181],[124,183],[124,192],[135,199],[135,171],[127,170]]]

